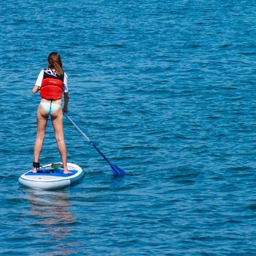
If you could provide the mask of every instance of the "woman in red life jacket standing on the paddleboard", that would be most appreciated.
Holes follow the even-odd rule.
[[[55,138],[63,164],[64,174],[70,173],[67,169],[67,150],[63,133],[63,113],[67,113],[69,92],[67,87],[67,74],[62,69],[61,56],[57,52],[50,53],[48,68],[41,70],[32,92],[40,91],[41,102],[38,106],[38,129],[34,147],[34,161],[32,172],[39,168],[39,156],[44,142],[45,128],[49,115],[51,116]],[[64,93],[64,107],[61,107],[62,93]]]

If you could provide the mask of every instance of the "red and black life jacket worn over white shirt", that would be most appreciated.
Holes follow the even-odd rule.
[[[40,96],[45,99],[61,99],[64,91],[64,75],[58,76],[50,69],[44,70]]]

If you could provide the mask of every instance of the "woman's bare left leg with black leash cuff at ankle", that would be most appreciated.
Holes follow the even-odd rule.
[[[34,162],[39,162],[39,156],[42,150],[42,143],[44,142],[45,128],[48,121],[48,115],[45,113],[45,110],[41,105],[38,107],[37,112],[37,120],[38,120],[38,129],[36,134],[36,141],[34,146]],[[36,173],[36,168],[33,167],[33,173]]]

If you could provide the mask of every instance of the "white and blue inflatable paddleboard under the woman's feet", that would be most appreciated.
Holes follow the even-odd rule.
[[[58,166],[59,165],[59,166]],[[61,163],[46,164],[37,173],[31,170],[19,177],[19,183],[32,189],[62,189],[78,182],[84,176],[84,171],[76,164],[67,163],[70,174],[63,174]]]

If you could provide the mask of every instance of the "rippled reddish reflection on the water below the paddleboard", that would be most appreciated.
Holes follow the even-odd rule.
[[[66,192],[28,189],[27,199],[30,202],[30,216],[35,220],[32,225],[38,228],[38,236],[44,243],[52,243],[50,255],[69,255],[74,253],[69,246],[76,243],[69,238],[73,231],[75,219],[69,211],[71,204]],[[67,240],[67,238],[69,238]]]

